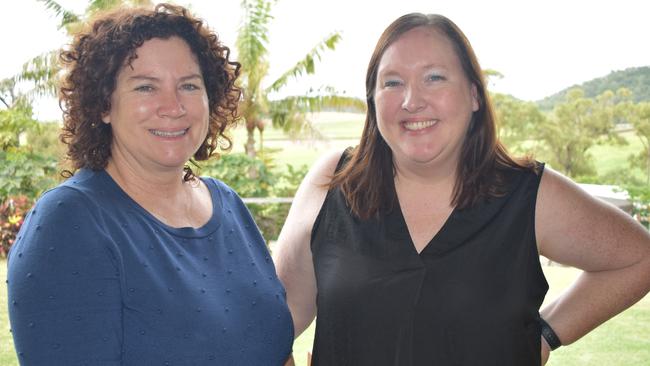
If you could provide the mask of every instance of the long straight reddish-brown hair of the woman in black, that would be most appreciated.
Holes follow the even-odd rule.
[[[470,207],[481,199],[505,193],[505,173],[510,170],[535,171],[529,158],[515,160],[498,141],[494,109],[474,50],[463,32],[448,18],[437,14],[406,14],[382,33],[370,58],[366,73],[366,122],[359,145],[345,167],[337,172],[330,189],[340,188],[352,212],[362,219],[387,213],[397,203],[393,154],[377,127],[374,91],[379,62],[386,49],[401,35],[417,27],[432,28],[454,46],[467,79],[476,87],[479,108],[472,115],[458,162],[452,205]]]

